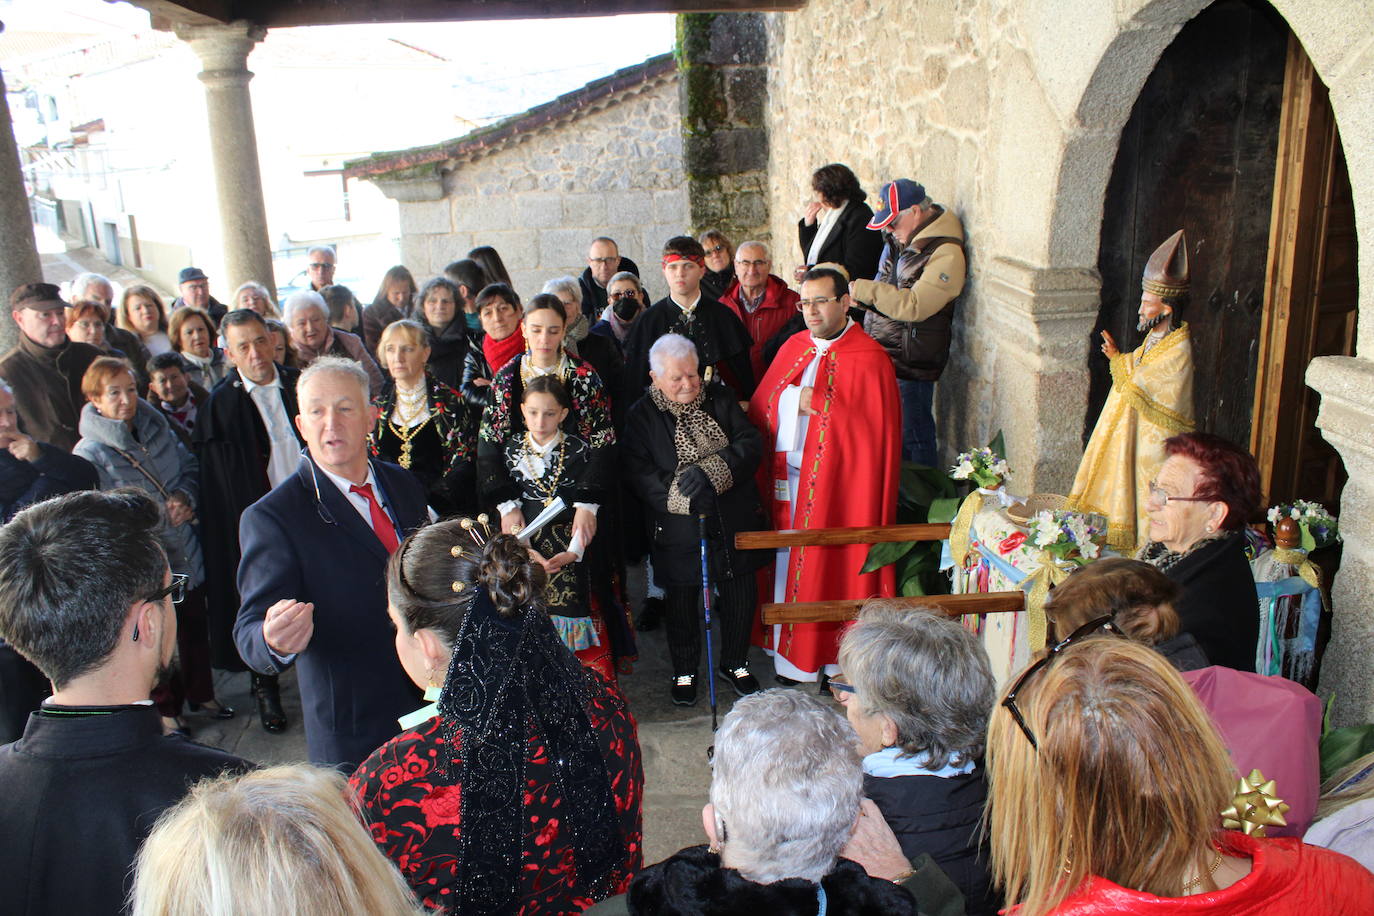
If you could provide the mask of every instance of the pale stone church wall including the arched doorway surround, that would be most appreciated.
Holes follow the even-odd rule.
[[[1272,0],[1330,89],[1374,265],[1374,5]],[[925,183],[969,232],[970,280],[937,391],[945,457],[1004,430],[1017,492],[1063,492],[1081,455],[1087,342],[1107,180],[1121,128],[1206,0],[811,0],[768,16],[775,261],[801,258],[809,176],[845,162],[870,192]],[[790,254],[790,260],[789,255]],[[1363,312],[1374,272],[1362,269]],[[1322,691],[1338,724],[1374,720],[1374,321],[1355,358],[1314,361],[1319,426],[1351,474]]]

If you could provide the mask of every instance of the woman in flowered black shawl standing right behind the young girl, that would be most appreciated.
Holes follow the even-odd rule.
[[[605,486],[605,472],[616,431],[610,422],[610,398],[596,369],[585,360],[563,350],[563,330],[567,310],[556,295],[541,293],[525,306],[525,342],[529,349],[506,364],[492,382],[492,404],[482,415],[477,438],[477,474],[482,499],[488,504],[507,503],[518,496],[518,486],[506,467],[503,449],[511,435],[525,433],[525,419],[518,405],[525,386],[534,379],[558,378],[572,400],[572,409],[563,420],[563,431],[591,446],[587,467],[578,475],[584,493]],[[591,544],[596,534],[596,509],[592,503],[578,503],[573,516],[573,533],[583,544]],[[518,531],[525,527],[525,514],[513,508],[502,514],[502,530]]]

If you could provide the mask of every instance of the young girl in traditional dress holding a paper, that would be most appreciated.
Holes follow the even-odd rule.
[[[561,428],[573,400],[555,376],[530,380],[519,407],[525,431],[506,441],[506,468],[519,488],[519,499],[502,503],[497,511],[504,514],[518,507],[533,520],[555,500],[563,500],[563,511],[529,538],[530,553],[548,574],[544,606],[563,644],[584,665],[613,680],[610,654],[605,648],[606,628],[600,615],[592,611],[588,567],[583,562],[591,545],[573,534],[574,504],[602,501],[599,490],[584,490],[580,482],[591,449]]]

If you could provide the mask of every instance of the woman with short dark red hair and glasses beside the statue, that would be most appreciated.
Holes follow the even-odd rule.
[[[1140,559],[1179,585],[1180,632],[1213,665],[1254,670],[1259,596],[1245,558],[1245,525],[1260,505],[1260,468],[1249,452],[1209,433],[1164,441],[1150,481],[1150,541]]]

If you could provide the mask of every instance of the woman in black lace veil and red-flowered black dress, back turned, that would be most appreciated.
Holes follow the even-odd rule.
[[[387,566],[407,674],[437,703],[359,766],[372,838],[449,913],[577,913],[643,862],[644,775],[624,698],[544,612],[544,570],[508,534],[430,525]]]

